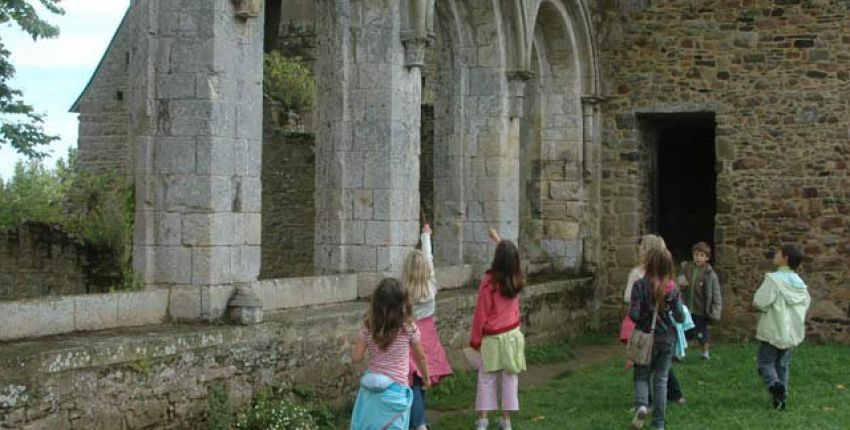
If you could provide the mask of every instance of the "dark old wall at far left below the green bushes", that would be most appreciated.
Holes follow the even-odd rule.
[[[115,260],[55,227],[0,231],[0,301],[106,292],[121,281]]]

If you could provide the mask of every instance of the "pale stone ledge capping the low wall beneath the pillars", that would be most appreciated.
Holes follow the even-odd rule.
[[[581,288],[588,285],[588,278],[530,285],[522,295],[524,306],[537,303],[538,299],[546,301],[549,296],[568,289],[576,290],[577,294],[569,297],[577,301],[574,307],[581,309],[589,297],[581,294]],[[437,317],[460,313],[471,319],[475,295],[474,289],[466,288],[441,293]],[[266,322],[251,327],[169,323],[5,342],[0,348],[0,383],[30,375],[145,362],[206,348],[280,339],[300,342],[299,339],[311,335],[321,338],[332,333],[351,334],[362,321],[365,306],[362,301],[351,301],[281,310],[270,313]],[[463,312],[467,308],[469,312]]]

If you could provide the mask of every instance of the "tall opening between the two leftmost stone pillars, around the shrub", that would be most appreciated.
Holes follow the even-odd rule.
[[[266,0],[264,30],[266,58],[272,54],[287,61],[299,57],[304,67],[314,70],[314,0]],[[287,79],[292,77],[287,75]],[[290,83],[290,87],[302,86]],[[294,102],[294,106],[284,105],[275,95],[263,97],[259,277],[312,276],[316,237],[314,108]]]

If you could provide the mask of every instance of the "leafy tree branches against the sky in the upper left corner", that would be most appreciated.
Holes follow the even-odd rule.
[[[33,40],[59,35],[59,28],[39,18],[31,3],[35,0],[0,0],[0,25],[17,23]],[[49,12],[62,15],[59,7],[62,0],[38,0]],[[57,136],[44,132],[44,114],[36,113],[24,103],[23,93],[9,87],[8,81],[15,76],[15,68],[9,62],[11,53],[0,40],[0,145],[11,145],[19,153],[30,158],[46,155],[38,149]]]

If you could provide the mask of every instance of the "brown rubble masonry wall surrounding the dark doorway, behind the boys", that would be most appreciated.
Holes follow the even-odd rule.
[[[724,320],[749,302],[769,248],[800,244],[812,334],[850,324],[850,4],[829,0],[600,1],[602,233],[609,322],[647,231],[639,113],[713,112],[716,252]],[[698,238],[694,238],[698,240]],[[735,324],[735,323],[738,324]]]

